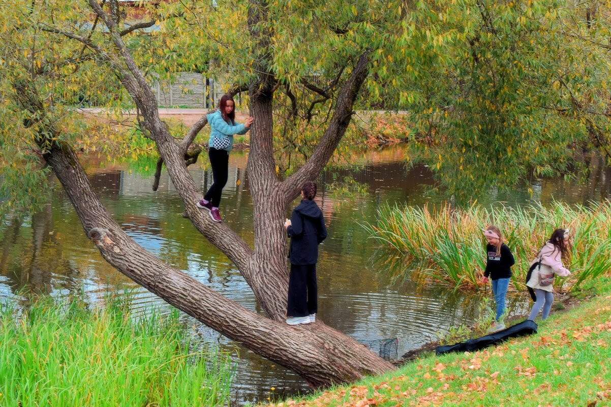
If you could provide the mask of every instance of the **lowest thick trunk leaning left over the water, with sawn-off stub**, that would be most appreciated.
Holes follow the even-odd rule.
[[[289,326],[230,301],[136,244],[112,219],[75,152],[53,143],[44,155],[104,259],[125,276],[214,330],[301,375],[312,386],[392,370],[364,345],[323,323]]]

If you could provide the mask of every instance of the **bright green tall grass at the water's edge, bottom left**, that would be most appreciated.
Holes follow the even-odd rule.
[[[0,406],[219,406],[229,398],[227,356],[193,350],[178,312],[134,318],[39,298],[0,313]]]

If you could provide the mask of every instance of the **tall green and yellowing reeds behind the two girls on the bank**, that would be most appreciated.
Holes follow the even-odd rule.
[[[402,273],[425,275],[460,288],[477,288],[485,268],[485,239],[481,229],[495,224],[516,259],[511,283],[525,289],[525,274],[538,250],[558,227],[569,228],[573,250],[568,264],[573,273],[556,287],[571,289],[611,271],[611,203],[551,207],[455,210],[442,207],[385,207],[375,224],[365,224],[371,237],[411,260]],[[416,276],[414,276],[416,277]]]

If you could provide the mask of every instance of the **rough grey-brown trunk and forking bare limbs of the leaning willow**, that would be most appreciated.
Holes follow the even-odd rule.
[[[115,0],[111,0],[111,4],[112,1]],[[45,159],[75,206],[87,236],[97,244],[104,259],[167,303],[224,336],[243,343],[255,353],[295,371],[313,386],[354,381],[364,375],[393,369],[392,364],[321,321],[295,327],[284,323],[288,287],[287,260],[284,257],[286,237],[282,229],[285,208],[298,193],[302,180],[312,179],[320,172],[341,139],[360,85],[367,76],[367,54],[360,58],[338,95],[337,108],[329,126],[332,130],[324,134],[315,152],[316,160],[284,182],[276,178],[272,154],[273,91],[269,86],[270,78],[263,78],[268,81],[263,87],[259,87],[260,82],[251,85],[251,90],[257,87],[257,92],[251,92],[256,117],[249,157],[249,182],[255,204],[253,251],[226,224],[211,221],[197,208],[196,202],[202,193],[186,169],[184,152],[185,144],[198,130],[189,131],[181,144],[174,141],[159,119],[155,97],[123,44],[114,20],[106,15],[96,0],[89,0],[89,4],[109,29],[117,54],[110,56],[89,39],[77,39],[97,51],[114,68],[141,112],[144,127],[156,142],[192,224],[240,270],[269,319],[244,309],[138,246],[120,229],[95,196],[75,153],[68,146],[53,142],[53,138],[41,136],[43,144],[52,145]],[[40,106],[38,103],[38,109]],[[195,127],[203,126],[203,120],[198,123]]]

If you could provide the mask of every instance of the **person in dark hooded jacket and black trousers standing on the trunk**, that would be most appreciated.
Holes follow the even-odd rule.
[[[291,243],[288,259],[291,273],[288,277],[287,324],[307,324],[316,320],[318,286],[316,262],[318,244],[327,237],[323,213],[314,197],[316,183],[306,182],[301,188],[301,204],[293,209],[291,219],[284,222]]]

